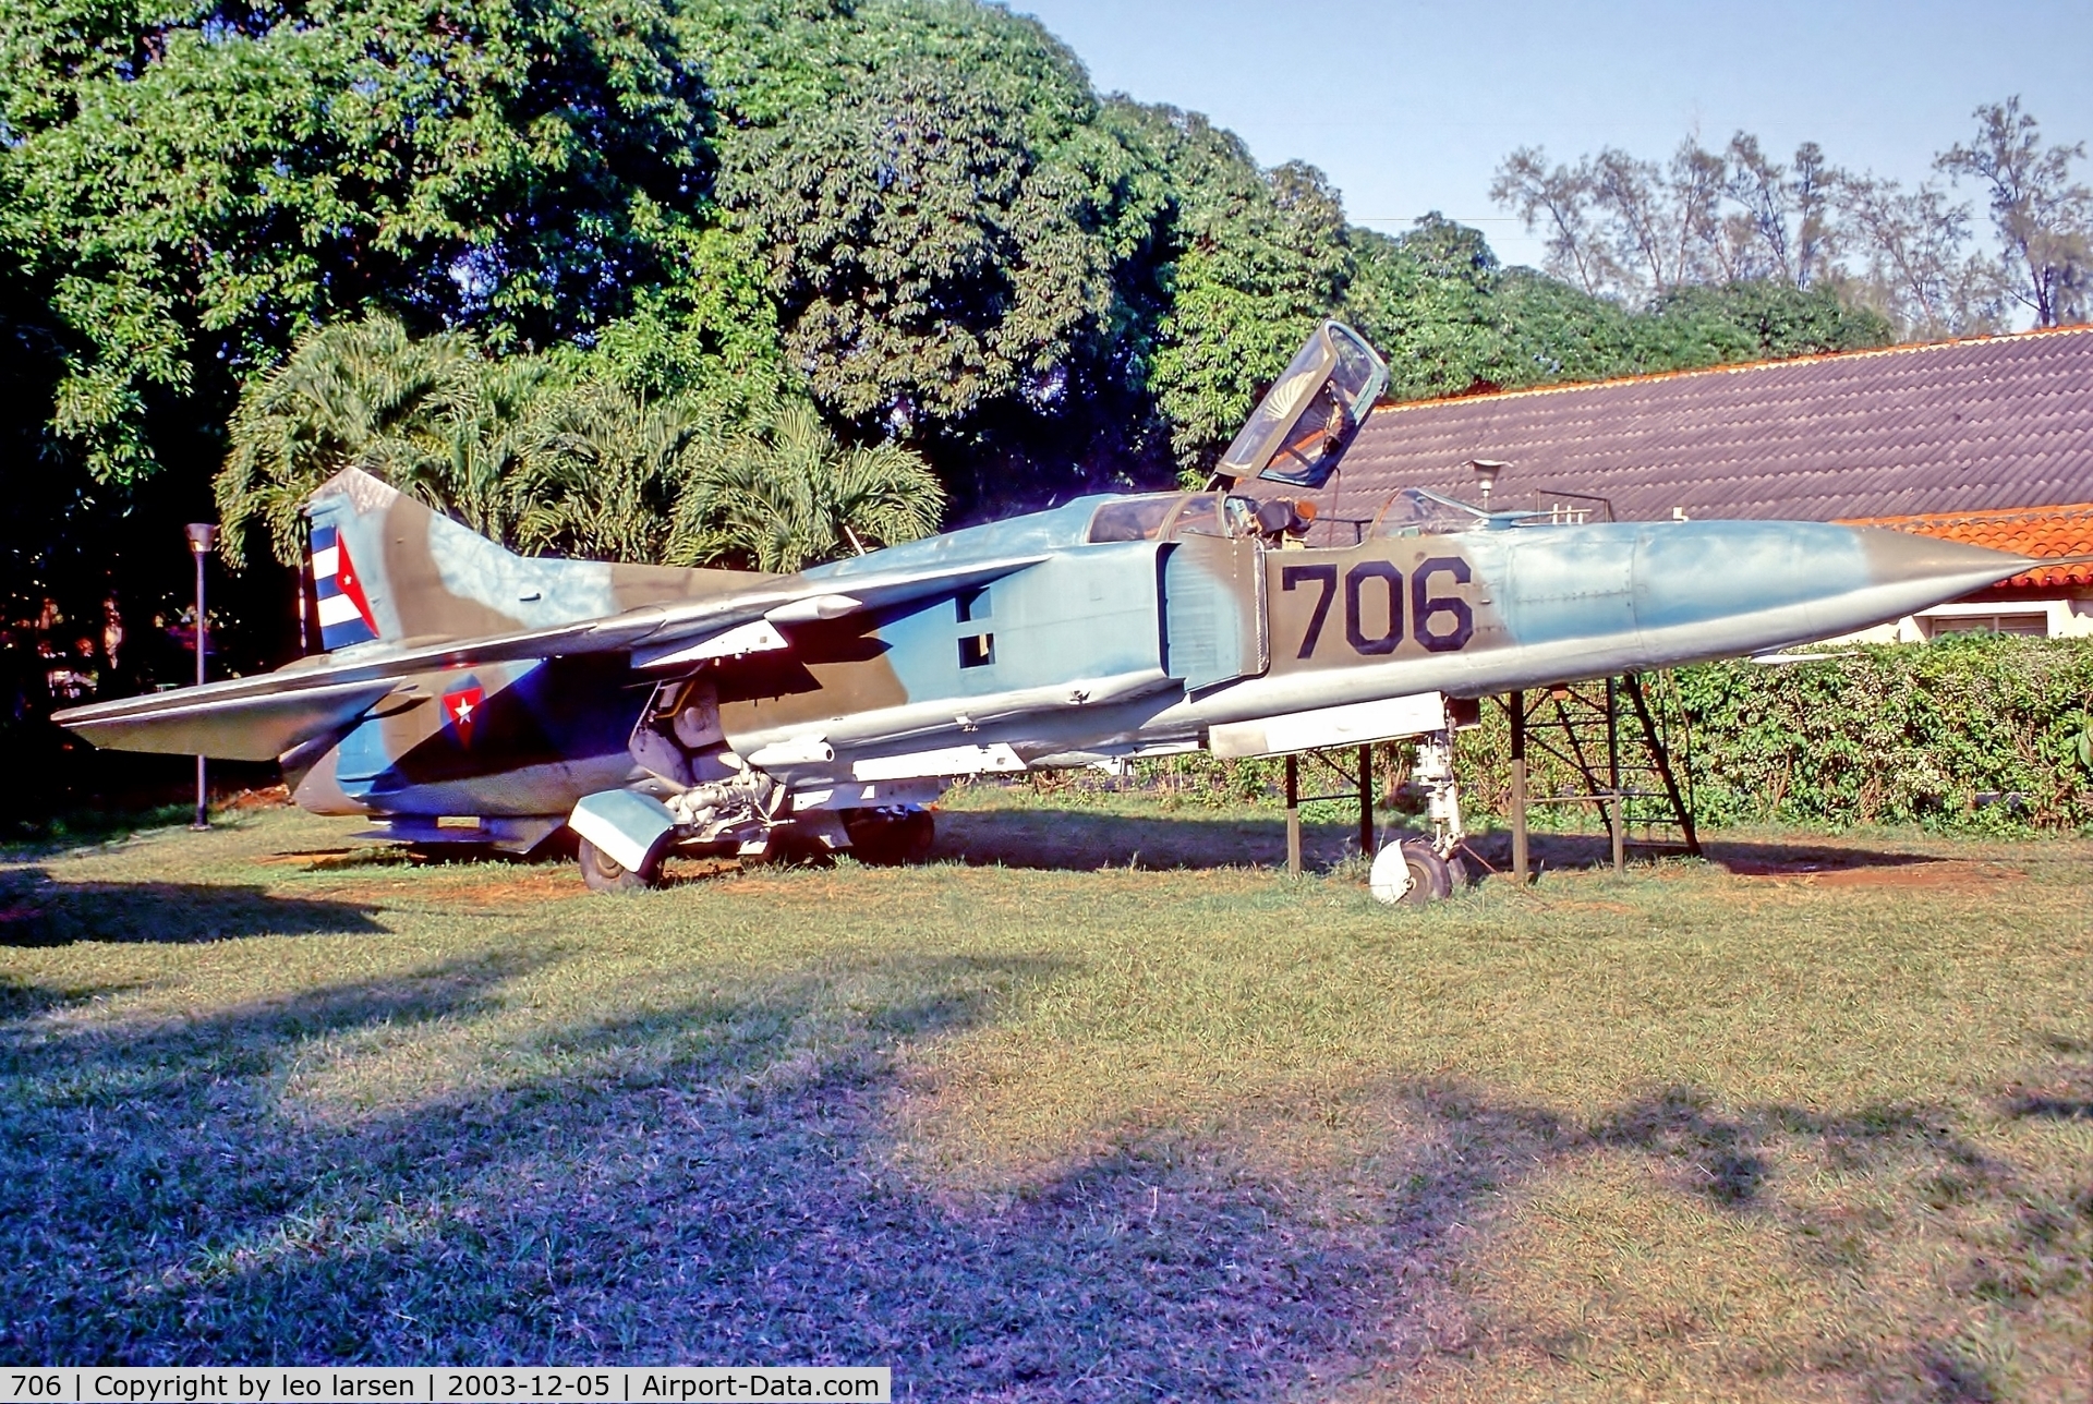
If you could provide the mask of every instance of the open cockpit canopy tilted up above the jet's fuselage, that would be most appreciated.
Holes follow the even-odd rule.
[[[1323,322],[1264,391],[1214,475],[1321,488],[1388,389],[1388,366],[1344,322]]]

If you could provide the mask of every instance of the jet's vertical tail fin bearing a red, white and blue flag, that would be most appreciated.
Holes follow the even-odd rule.
[[[519,557],[358,469],[327,479],[306,513],[329,653],[509,634],[626,607],[613,567]]]

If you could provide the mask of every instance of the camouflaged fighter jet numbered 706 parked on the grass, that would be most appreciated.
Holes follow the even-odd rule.
[[[1375,868],[1404,896],[1444,891],[1461,841],[1459,699],[1846,634],[2030,567],[1430,492],[1316,519],[1386,383],[1325,322],[1203,492],[1088,496],[793,575],[525,559],[343,471],[308,508],[327,653],[57,720],[280,760],[303,808],[410,843],[571,829],[597,889],[655,883],[672,850],[908,860],[959,776],[1417,737],[1434,833]]]

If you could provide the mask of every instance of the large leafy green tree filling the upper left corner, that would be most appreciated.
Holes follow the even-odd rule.
[[[703,109],[653,0],[0,10],[0,243],[98,479],[343,310],[546,345],[659,280]]]

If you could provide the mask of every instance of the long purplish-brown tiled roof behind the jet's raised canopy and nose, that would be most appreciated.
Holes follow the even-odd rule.
[[[1379,406],[1337,513],[1396,488],[1597,494],[1622,519],[1838,521],[2093,500],[2093,326]],[[1329,508],[1325,508],[1329,511]]]

